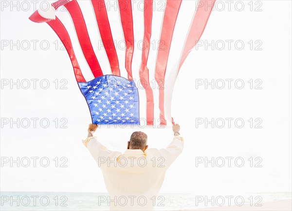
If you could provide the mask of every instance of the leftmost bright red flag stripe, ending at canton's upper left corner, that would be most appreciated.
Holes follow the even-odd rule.
[[[67,53],[71,59],[71,63],[73,66],[75,78],[77,82],[86,82],[85,78],[83,77],[80,67],[78,65],[77,59],[75,57],[75,53],[73,51],[72,42],[69,37],[69,34],[65,28],[65,26],[62,24],[62,22],[56,17],[55,20],[51,20],[47,22],[48,25],[55,31],[57,36],[62,41],[63,45],[65,46]]]

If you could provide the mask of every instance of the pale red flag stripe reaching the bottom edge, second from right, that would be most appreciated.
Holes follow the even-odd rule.
[[[155,80],[159,86],[159,110],[160,124],[166,125],[164,116],[164,78],[169,56],[169,50],[175,22],[178,17],[182,0],[167,0],[164,11],[163,25],[160,36],[160,44],[156,59]]]

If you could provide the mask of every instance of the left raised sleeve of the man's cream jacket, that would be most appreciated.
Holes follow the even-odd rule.
[[[117,151],[108,150],[104,145],[96,140],[96,138],[91,138],[88,141],[87,149],[99,167],[105,166],[108,161],[116,161],[116,159],[122,154]]]

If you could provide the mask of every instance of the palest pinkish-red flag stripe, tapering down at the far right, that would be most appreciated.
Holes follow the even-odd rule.
[[[198,9],[196,11],[194,19],[192,20],[192,25],[187,35],[186,42],[183,48],[183,54],[180,60],[178,74],[183,65],[184,60],[187,58],[189,53],[196,46],[199,39],[201,38],[207,25],[208,19],[211,15],[214,4],[215,0],[201,0],[198,3]]]

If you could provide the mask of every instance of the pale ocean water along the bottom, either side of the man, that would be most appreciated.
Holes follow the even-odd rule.
[[[86,192],[0,192],[1,211],[107,211],[107,193]],[[233,195],[196,195],[194,193],[160,193],[153,199],[155,210],[187,210],[263,202],[291,200],[291,192],[245,193]],[[130,201],[130,199],[129,199]],[[113,202],[111,202],[113,203]],[[119,202],[118,202],[119,203]],[[124,203],[124,202],[121,202]]]

